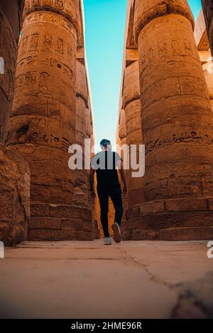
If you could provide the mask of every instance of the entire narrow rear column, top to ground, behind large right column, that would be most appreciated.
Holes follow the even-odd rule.
[[[122,121],[125,122],[123,131],[125,132],[126,149],[132,151],[131,145],[136,145],[137,154],[139,145],[143,144],[143,135],[141,128],[141,101],[139,86],[139,66],[138,66],[138,46],[133,33],[133,21],[135,15],[135,1],[127,1],[126,10],[126,28],[124,42],[123,69],[121,79],[121,92],[119,102],[119,128],[122,137]],[[121,140],[117,135],[117,143]],[[123,141],[123,140],[122,140]],[[124,142],[124,141],[123,141]],[[131,147],[131,150],[130,150]],[[132,162],[132,161],[130,161]],[[137,161],[138,162],[138,161]],[[123,239],[131,239],[135,229],[135,221],[126,221],[129,216],[129,208],[144,201],[143,195],[143,177],[134,178],[132,172],[135,170],[126,169],[126,177],[129,191],[124,198],[125,214],[123,222]],[[127,213],[127,214],[126,214]]]

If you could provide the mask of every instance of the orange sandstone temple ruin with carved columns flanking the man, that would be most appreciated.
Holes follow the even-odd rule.
[[[195,22],[187,0],[128,1],[116,137],[145,145],[146,173],[126,171],[126,240],[213,236],[212,1],[202,8]],[[70,145],[94,143],[83,1],[0,0],[0,26],[0,240],[97,239],[89,171],[68,166]]]

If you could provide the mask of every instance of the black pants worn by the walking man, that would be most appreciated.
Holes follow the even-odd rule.
[[[122,191],[120,186],[97,186],[99,203],[101,207],[101,221],[104,230],[104,237],[109,237],[108,212],[109,198],[114,205],[115,217],[114,222],[121,225],[121,219],[124,213],[122,204]]]

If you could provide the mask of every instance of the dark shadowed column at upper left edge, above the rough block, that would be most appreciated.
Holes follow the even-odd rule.
[[[4,142],[6,124],[13,101],[22,9],[23,1],[21,0],[0,1],[0,142]]]

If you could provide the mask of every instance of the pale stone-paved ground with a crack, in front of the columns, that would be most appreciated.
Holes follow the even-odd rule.
[[[0,259],[1,318],[213,318],[207,242],[25,242]]]

